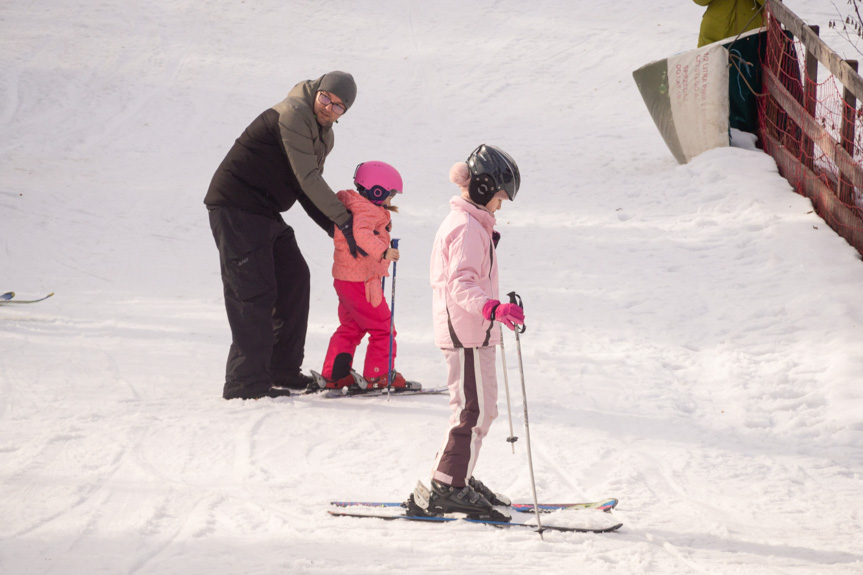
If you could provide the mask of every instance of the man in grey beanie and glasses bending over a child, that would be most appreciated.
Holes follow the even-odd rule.
[[[232,343],[225,399],[290,395],[311,378],[300,371],[309,320],[310,275],[281,212],[299,202],[331,237],[353,246],[351,214],[323,178],[333,124],[357,86],[345,72],[300,82],[237,138],[204,198],[219,249]]]

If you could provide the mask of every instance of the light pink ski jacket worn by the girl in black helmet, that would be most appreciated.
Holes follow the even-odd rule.
[[[494,215],[461,196],[438,228],[430,280],[435,345],[486,347],[500,343],[500,326],[482,316],[490,299],[500,299],[492,232]]]

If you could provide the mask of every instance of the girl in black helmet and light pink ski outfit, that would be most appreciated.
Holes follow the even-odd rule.
[[[473,477],[491,422],[497,417],[496,345],[500,328],[524,323],[523,310],[501,303],[495,254],[495,212],[515,198],[521,175],[503,150],[483,144],[455,164],[450,180],[460,194],[435,236],[431,257],[435,344],[446,358],[452,414],[432,472],[428,505],[409,498],[414,513],[466,513],[509,520],[509,505]],[[425,502],[422,502],[425,503]]]

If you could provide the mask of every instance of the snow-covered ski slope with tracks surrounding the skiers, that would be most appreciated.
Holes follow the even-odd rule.
[[[835,7],[788,4],[839,47]],[[0,292],[57,295],[0,308],[0,573],[863,572],[860,258],[761,152],[678,166],[631,79],[694,47],[702,11],[6,3]],[[229,332],[204,192],[257,114],[331,69],[359,95],[328,181],[349,187],[380,159],[406,183],[410,378],[444,377],[427,266],[450,166],[483,141],[519,162],[499,254],[501,289],[525,301],[537,491],[620,497],[619,533],[330,518],[331,499],[398,500],[427,479],[447,400],[221,399]],[[312,268],[318,369],[332,248],[301,210],[286,220]],[[503,395],[500,408],[477,475],[527,500]]]

